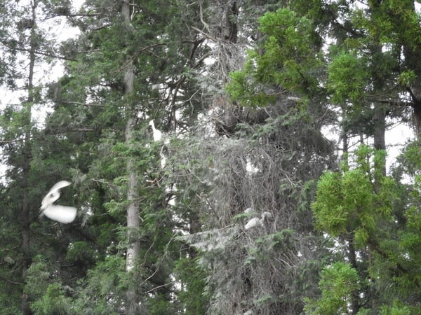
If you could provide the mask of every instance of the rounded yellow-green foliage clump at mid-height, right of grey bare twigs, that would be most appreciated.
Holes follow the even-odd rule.
[[[396,197],[392,179],[377,178],[382,189],[375,189],[376,171],[372,171],[367,162],[370,153],[362,146],[356,152],[354,169],[323,174],[317,186],[316,201],[312,204],[319,230],[332,237],[352,233],[360,248],[367,245],[370,235],[375,235],[379,221],[392,221],[392,201]],[[381,152],[375,153],[374,160],[382,158]]]

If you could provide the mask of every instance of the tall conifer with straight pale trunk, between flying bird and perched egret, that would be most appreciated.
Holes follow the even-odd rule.
[[[76,53],[79,60],[70,60],[65,76],[51,88],[55,111],[46,130],[61,129],[77,154],[72,174],[91,212],[86,245],[98,253],[81,275],[86,283],[74,293],[79,312],[83,305],[83,311],[131,314],[176,307],[172,277],[180,244],[173,239],[172,192],[162,184],[163,142],[152,140],[147,125],[154,118],[164,132],[182,132],[185,121],[196,117],[199,99],[191,73],[203,62],[202,41],[184,25],[185,14],[165,1],[122,7],[90,3],[75,21],[83,30],[79,47],[89,53]],[[72,261],[79,261],[81,245],[75,240],[74,249],[68,248]],[[109,266],[115,278],[107,278]],[[104,290],[102,277],[110,279]],[[95,307],[100,298],[109,303]]]

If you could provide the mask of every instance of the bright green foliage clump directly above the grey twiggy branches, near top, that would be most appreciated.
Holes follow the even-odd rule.
[[[320,66],[312,42],[312,25],[288,8],[265,13],[260,19],[262,44],[248,52],[243,70],[231,73],[227,92],[243,106],[267,106],[283,92],[317,90]]]

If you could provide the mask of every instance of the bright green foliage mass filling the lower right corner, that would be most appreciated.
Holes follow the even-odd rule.
[[[413,145],[408,146],[408,158],[416,157],[417,151]],[[348,253],[372,258],[363,261],[348,256],[359,274],[362,295],[367,294],[366,290],[374,290],[378,295],[373,309],[361,307],[358,314],[372,314],[373,311],[417,314],[415,296],[420,294],[417,287],[421,283],[420,274],[415,271],[421,261],[417,176],[408,190],[396,179],[382,176],[375,169],[376,165],[382,164],[385,153],[361,147],[355,154],[352,167],[345,166],[342,172],[327,172],[319,180],[316,201],[312,204],[316,226],[335,237],[338,245],[343,243]],[[415,169],[409,160],[405,165]],[[308,310],[317,312],[318,307],[323,307],[322,298],[323,294],[316,302],[312,300]],[[405,302],[392,305],[396,299]],[[359,303],[357,300],[357,297],[352,300],[354,307]]]

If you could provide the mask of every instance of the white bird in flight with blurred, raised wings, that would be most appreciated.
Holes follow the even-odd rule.
[[[40,216],[46,216],[60,223],[71,223],[76,218],[76,208],[53,204],[60,197],[60,189],[69,186],[69,181],[59,181],[47,193],[41,202]]]

